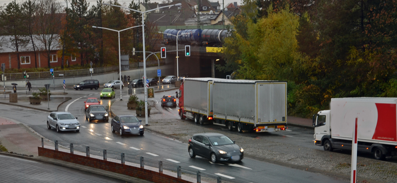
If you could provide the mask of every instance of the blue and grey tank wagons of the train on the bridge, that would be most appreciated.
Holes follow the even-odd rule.
[[[223,39],[230,36],[228,30],[222,29],[167,29],[164,33],[165,45],[176,44],[178,38],[181,45],[222,46]]]

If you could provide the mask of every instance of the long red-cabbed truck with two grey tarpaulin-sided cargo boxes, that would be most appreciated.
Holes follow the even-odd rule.
[[[287,128],[287,82],[185,78],[181,119],[226,126],[230,131],[273,132]]]

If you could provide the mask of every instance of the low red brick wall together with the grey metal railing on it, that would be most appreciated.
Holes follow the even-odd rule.
[[[66,148],[60,149],[60,145],[68,148],[69,150]],[[222,182],[222,179],[219,176],[200,172],[199,170],[191,167],[181,167],[179,165],[169,163],[168,161],[162,161],[161,158],[153,159],[136,154],[112,151],[58,140],[54,141],[54,150],[52,150],[44,148],[44,139],[41,138],[39,156],[121,173],[148,181],[154,181],[156,183],[168,183],[174,181],[178,183],[193,183],[193,177],[196,177],[197,183],[201,183],[201,177],[213,181],[216,180],[217,183]],[[147,167],[145,168],[145,166]],[[163,170],[169,171],[163,172]],[[174,171],[176,172],[176,177]],[[182,173],[189,174],[190,176],[187,176],[184,179],[191,181],[182,180]],[[172,174],[174,174],[174,176]],[[161,179],[158,177],[161,177]]]

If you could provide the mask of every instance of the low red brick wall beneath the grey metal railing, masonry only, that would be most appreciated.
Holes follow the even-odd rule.
[[[115,172],[123,175],[136,177],[139,179],[151,181],[154,183],[192,183],[168,175],[160,174],[151,170],[145,170],[138,167],[123,165],[121,163],[109,162],[101,159],[95,159],[67,152],[56,151],[43,147],[38,147],[39,156],[67,161],[70,163],[89,166],[97,169],[102,169],[110,172]]]

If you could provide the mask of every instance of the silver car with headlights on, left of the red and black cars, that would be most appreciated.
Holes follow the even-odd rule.
[[[47,128],[61,131],[80,131],[80,122],[69,112],[52,112],[47,116]]]

